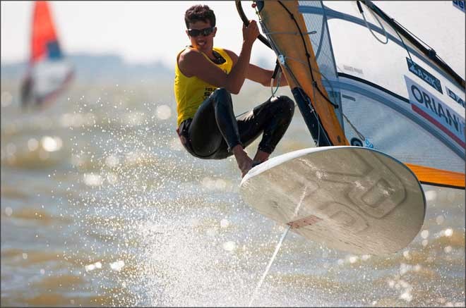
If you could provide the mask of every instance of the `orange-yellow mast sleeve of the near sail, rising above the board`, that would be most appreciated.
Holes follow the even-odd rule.
[[[264,1],[260,16],[273,45],[278,53],[285,56],[286,64],[281,66],[289,87],[300,87],[311,99],[333,145],[349,145],[334,106],[328,101],[328,92],[322,84],[316,56],[309,35],[306,34],[313,29],[306,27],[304,18],[298,11],[298,1]],[[313,81],[320,92],[313,87]]]

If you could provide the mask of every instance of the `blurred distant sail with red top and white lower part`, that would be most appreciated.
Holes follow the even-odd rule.
[[[35,1],[28,72],[21,85],[21,104],[51,104],[73,77],[66,61],[47,1]]]

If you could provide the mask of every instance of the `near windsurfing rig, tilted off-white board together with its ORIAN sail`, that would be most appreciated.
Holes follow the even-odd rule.
[[[443,27],[462,28],[462,35],[458,31],[458,37],[449,39],[448,44],[453,50],[458,49],[458,54],[462,52],[462,66],[458,67],[464,68],[464,13],[446,2],[431,5],[438,6],[434,9],[448,16],[442,21]],[[265,216],[287,223],[294,232],[340,250],[380,254],[407,246],[422,228],[424,219],[425,198],[421,198],[419,183],[465,189],[464,75],[368,0],[329,1],[325,5],[323,1],[253,1],[253,7],[265,35],[261,40],[275,51],[277,65],[287,78],[304,123],[317,149],[324,150],[298,150],[271,159],[273,163],[256,166],[241,181],[241,196]],[[241,1],[237,1],[237,8],[246,23]],[[395,196],[406,192],[406,187],[416,187],[415,214],[410,212],[414,221],[400,219],[399,224],[391,221],[385,225],[383,219],[376,220],[363,213],[362,208],[370,208],[364,200],[345,195],[357,190],[359,184],[347,183],[343,187],[335,184],[339,183],[335,168],[342,169],[342,178],[365,174],[352,154],[354,148],[377,157],[378,163],[374,160],[369,165],[375,173],[383,173],[378,175],[381,178],[393,173],[404,179],[383,178],[378,183],[384,185],[374,182],[365,187],[371,194],[386,195],[394,190]],[[301,157],[302,151],[305,158]],[[325,161],[321,157],[324,154],[333,159]],[[400,175],[401,171],[412,176]],[[330,174],[334,181],[316,181],[319,174]],[[275,184],[273,178],[277,180]],[[318,195],[325,197],[304,198],[300,209],[306,209],[306,214],[302,216],[299,211],[295,214],[291,209],[299,204],[298,192],[304,194],[308,182],[316,183],[312,187],[318,187]],[[297,185],[295,195],[289,193],[292,190],[289,183]],[[275,202],[269,196],[275,196]],[[363,217],[362,226],[366,228],[345,232],[350,215],[322,214],[319,209],[325,202],[343,204],[346,212],[342,213],[354,210],[357,217]],[[395,216],[413,210],[409,204],[395,209],[398,211]],[[291,214],[297,215],[297,220]],[[311,217],[310,227],[292,227],[296,226],[293,221],[305,226],[306,215]],[[400,242],[390,242],[395,230],[390,231],[390,224],[396,230],[410,232]],[[377,226],[381,227],[380,233],[375,232],[383,242],[381,245],[365,233],[371,233],[369,230]]]

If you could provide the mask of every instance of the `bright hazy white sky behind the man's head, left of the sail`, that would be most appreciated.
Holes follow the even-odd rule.
[[[217,46],[239,53],[241,19],[234,1],[51,1],[61,45],[66,53],[114,53],[126,61],[174,61],[189,40],[184,12],[206,3],[217,17]],[[249,1],[243,5],[249,6]],[[251,18],[252,8],[248,10]],[[29,56],[32,1],[1,1],[1,61],[25,61]],[[256,44],[253,59],[274,56]],[[273,61],[274,62],[274,61]]]

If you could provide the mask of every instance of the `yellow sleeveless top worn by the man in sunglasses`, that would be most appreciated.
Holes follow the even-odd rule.
[[[175,65],[174,95],[175,100],[177,101],[177,126],[187,118],[193,118],[194,113],[196,113],[204,99],[208,98],[210,94],[217,89],[214,85],[210,85],[208,82],[205,82],[196,76],[186,77],[181,73],[181,70],[179,70],[178,67],[178,58],[184,50],[185,49],[181,50],[177,55],[177,64]],[[227,52],[221,48],[214,47],[213,50],[217,51],[217,53],[226,60],[225,63],[214,64],[219,68],[222,68],[222,70],[228,74],[232,70],[232,58],[230,58]],[[204,53],[202,54],[212,62],[207,55]]]

